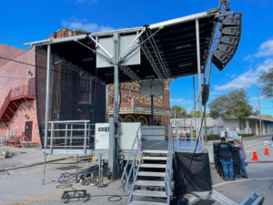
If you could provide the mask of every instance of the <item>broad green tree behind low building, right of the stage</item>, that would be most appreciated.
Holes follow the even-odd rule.
[[[235,89],[227,95],[217,97],[208,108],[212,118],[225,118],[235,116],[238,118],[248,117],[253,114],[252,107],[248,102],[248,95],[244,89]]]

